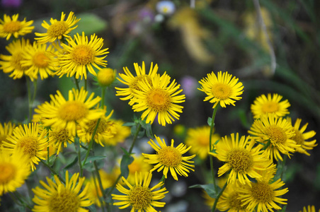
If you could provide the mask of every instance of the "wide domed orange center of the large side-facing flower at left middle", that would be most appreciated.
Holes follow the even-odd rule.
[[[88,109],[82,102],[65,102],[58,111],[59,117],[67,122],[77,121],[86,117]]]

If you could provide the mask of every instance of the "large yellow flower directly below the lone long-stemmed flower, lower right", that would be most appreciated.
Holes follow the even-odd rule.
[[[261,178],[257,171],[268,170],[272,162],[261,148],[253,148],[254,144],[250,136],[241,136],[239,139],[239,134],[231,134],[230,138],[222,137],[222,141],[215,146],[215,153],[210,153],[225,163],[219,167],[218,177],[231,170],[228,184],[234,184],[236,179],[241,184],[250,184],[248,176]]]

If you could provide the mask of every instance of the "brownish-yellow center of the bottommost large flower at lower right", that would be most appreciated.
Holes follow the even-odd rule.
[[[269,203],[273,201],[274,191],[268,183],[257,182],[252,185],[251,195],[259,203]]]

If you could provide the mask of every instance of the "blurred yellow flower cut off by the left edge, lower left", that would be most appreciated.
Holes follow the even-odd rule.
[[[30,175],[29,158],[21,151],[12,155],[0,150],[0,196],[14,192]]]

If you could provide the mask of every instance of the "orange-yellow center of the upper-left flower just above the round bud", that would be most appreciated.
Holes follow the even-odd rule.
[[[71,58],[75,64],[86,65],[94,61],[95,54],[88,45],[78,45],[74,47]]]

